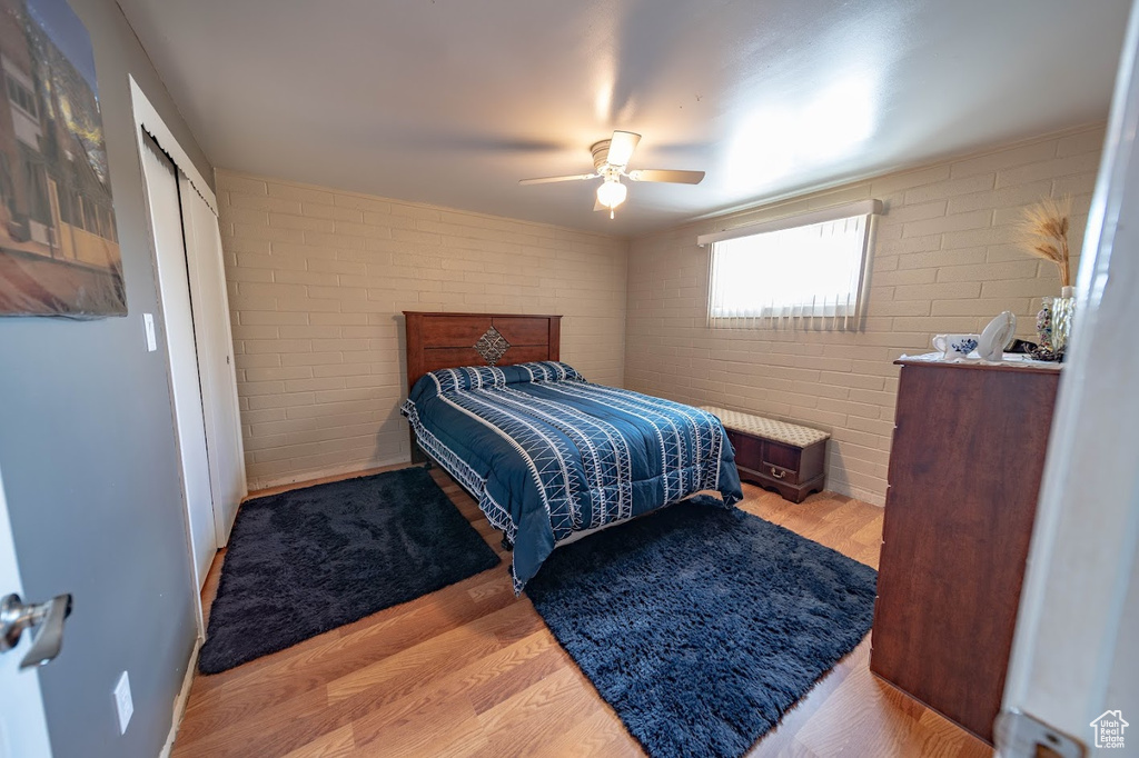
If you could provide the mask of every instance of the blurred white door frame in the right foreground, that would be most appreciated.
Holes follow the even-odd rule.
[[[1039,755],[1040,743],[1052,752],[1064,735],[1090,755],[1139,755],[1137,131],[1139,7],[1088,217],[1006,678],[997,748],[1008,758]]]

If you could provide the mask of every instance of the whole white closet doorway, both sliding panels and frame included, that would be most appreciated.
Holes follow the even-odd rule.
[[[200,588],[248,493],[218,200],[138,82],[128,79],[172,377],[189,559]],[[195,599],[204,635],[200,594]]]

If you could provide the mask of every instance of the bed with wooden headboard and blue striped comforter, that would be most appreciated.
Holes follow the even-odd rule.
[[[432,459],[513,544],[521,592],[562,544],[696,493],[741,499],[720,420],[595,385],[560,316],[404,312],[412,460]]]

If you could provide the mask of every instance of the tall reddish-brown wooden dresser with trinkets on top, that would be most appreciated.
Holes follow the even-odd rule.
[[[870,669],[991,743],[1059,371],[898,363]]]

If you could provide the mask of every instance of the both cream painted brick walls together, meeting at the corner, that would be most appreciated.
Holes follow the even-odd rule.
[[[902,353],[1014,311],[1031,337],[1054,269],[1013,240],[1023,207],[1075,199],[1079,252],[1103,127],[1021,142],[622,239],[219,172],[252,488],[399,462],[403,310],[562,313],[587,377],[834,434],[828,487],[882,503]],[[879,198],[866,329],[710,330],[696,236]],[[628,275],[626,275],[628,266]]]

